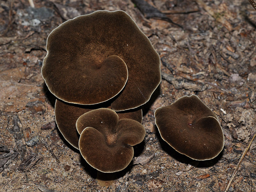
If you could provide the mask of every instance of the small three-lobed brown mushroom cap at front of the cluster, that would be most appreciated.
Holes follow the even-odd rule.
[[[86,162],[101,172],[117,172],[133,158],[132,146],[143,141],[146,131],[132,119],[120,119],[115,111],[100,108],[76,121],[80,135],[79,150]]]

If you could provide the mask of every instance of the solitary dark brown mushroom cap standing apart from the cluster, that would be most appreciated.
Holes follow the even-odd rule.
[[[192,159],[212,159],[224,147],[218,117],[196,95],[157,108],[155,122],[163,140]]]

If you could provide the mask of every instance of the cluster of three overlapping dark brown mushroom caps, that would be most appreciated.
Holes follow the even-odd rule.
[[[42,76],[60,132],[95,169],[123,170],[145,137],[139,107],[161,81],[148,37],[124,11],[95,11],[55,28],[46,51]]]

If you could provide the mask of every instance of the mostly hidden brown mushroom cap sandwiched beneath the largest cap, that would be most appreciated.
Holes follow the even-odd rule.
[[[109,104],[101,107],[110,108]],[[55,120],[57,126],[63,135],[63,137],[74,148],[79,149],[78,141],[80,135],[76,131],[76,120],[78,117],[93,109],[99,108],[99,105],[77,105],[72,103],[66,103],[62,100],[56,100],[55,102]],[[119,119],[133,119],[142,123],[142,109],[132,109],[128,111],[122,111],[117,113]]]

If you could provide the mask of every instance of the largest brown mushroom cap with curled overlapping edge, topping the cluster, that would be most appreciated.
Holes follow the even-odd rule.
[[[159,55],[124,11],[95,11],[68,20],[50,33],[46,50],[45,83],[69,103],[96,104],[122,90],[113,110],[137,108],[161,81]]]

